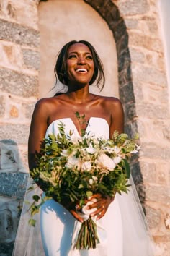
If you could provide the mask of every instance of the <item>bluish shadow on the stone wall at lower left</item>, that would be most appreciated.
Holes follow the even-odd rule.
[[[0,141],[0,255],[11,256],[28,174],[17,143]]]

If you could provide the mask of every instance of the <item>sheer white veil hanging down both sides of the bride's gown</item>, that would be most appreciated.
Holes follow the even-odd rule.
[[[153,256],[153,240],[132,177],[130,184],[132,186],[128,195],[125,193],[118,195],[123,226],[123,256]],[[27,188],[30,186],[32,179],[28,182]],[[30,214],[27,211],[29,208],[27,200],[31,201],[32,195],[37,192],[42,193],[40,189],[32,192],[27,189],[25,194],[12,256],[45,256],[40,236],[40,214],[35,215],[37,221],[35,227],[28,224]]]

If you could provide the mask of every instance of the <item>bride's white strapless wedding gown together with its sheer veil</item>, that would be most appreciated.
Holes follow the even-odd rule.
[[[58,123],[62,121],[65,132],[70,130],[80,136],[70,118],[53,121],[47,129],[49,134],[58,134]],[[109,125],[105,119],[91,117],[86,133],[95,137],[109,138]],[[130,183],[133,180],[130,178]],[[75,250],[71,244],[81,223],[55,200],[46,201],[37,218],[35,228],[27,226],[27,211],[23,208],[14,256],[151,256],[153,242],[148,232],[135,186],[130,187],[128,195],[116,195],[109,205],[107,213],[97,221],[97,233],[100,243],[96,249]],[[38,217],[38,215],[37,215]],[[27,226],[27,228],[26,228]],[[39,230],[40,228],[40,230]],[[41,234],[41,235],[40,235]]]

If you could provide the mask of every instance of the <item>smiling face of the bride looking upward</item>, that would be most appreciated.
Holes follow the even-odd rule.
[[[84,43],[74,43],[68,48],[66,58],[68,85],[89,85],[94,74],[91,51]]]

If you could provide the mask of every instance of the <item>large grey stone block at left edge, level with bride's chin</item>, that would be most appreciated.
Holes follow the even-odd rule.
[[[36,97],[38,92],[38,77],[15,72],[10,69],[0,69],[0,89],[24,98]]]

